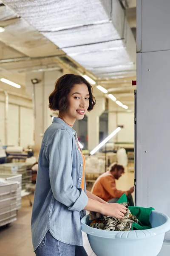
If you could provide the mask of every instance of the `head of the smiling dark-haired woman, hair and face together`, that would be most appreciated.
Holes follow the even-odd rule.
[[[60,77],[49,96],[49,108],[53,111],[58,110],[59,116],[70,120],[72,125],[76,119],[83,119],[85,112],[90,112],[95,104],[91,84],[82,76],[74,74]]]

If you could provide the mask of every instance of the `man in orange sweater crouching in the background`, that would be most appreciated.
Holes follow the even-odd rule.
[[[127,201],[129,202],[130,206],[134,206],[131,195],[131,193],[134,191],[134,186],[127,191],[116,189],[115,179],[119,180],[124,173],[124,170],[125,169],[122,165],[117,163],[111,164],[108,172],[103,173],[97,178],[92,187],[91,193],[97,195],[99,198],[102,198],[108,203],[115,203],[123,194],[126,194]]]

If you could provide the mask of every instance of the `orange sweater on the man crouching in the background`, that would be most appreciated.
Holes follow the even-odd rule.
[[[91,193],[102,198],[104,201],[109,201],[112,198],[120,198],[124,193],[128,195],[129,191],[116,189],[115,178],[111,172],[105,172],[95,181]]]

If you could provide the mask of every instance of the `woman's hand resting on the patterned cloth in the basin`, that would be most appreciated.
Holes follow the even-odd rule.
[[[122,219],[126,213],[127,208],[122,204],[101,204],[99,212],[102,215],[113,216]]]

